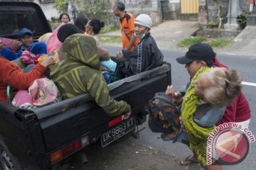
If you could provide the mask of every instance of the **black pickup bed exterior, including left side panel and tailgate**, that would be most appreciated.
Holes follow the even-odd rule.
[[[165,91],[171,84],[171,65],[127,77],[109,84],[110,96],[124,100],[132,108],[133,116],[146,115],[148,101],[158,91]],[[110,129],[113,120],[89,94],[81,94],[34,111],[15,108],[0,102],[1,136],[9,150],[25,162],[36,162],[41,169],[48,169],[50,153],[87,137],[87,145],[100,140],[102,132]]]

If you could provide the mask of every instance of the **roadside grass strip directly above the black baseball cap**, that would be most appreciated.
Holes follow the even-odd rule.
[[[178,43],[178,47],[189,47],[198,42],[206,42],[211,47],[223,48],[229,45],[232,42],[232,40],[228,38],[207,39],[205,37],[191,37],[191,38],[185,38],[181,40],[181,42]]]

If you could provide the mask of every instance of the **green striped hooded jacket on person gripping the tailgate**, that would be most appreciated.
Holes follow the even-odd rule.
[[[92,36],[71,35],[63,43],[63,50],[63,60],[51,68],[50,73],[64,99],[89,93],[108,115],[119,115],[130,110],[126,102],[110,97],[100,72],[100,58]]]

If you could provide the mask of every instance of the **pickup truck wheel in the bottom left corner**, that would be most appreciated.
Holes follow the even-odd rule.
[[[21,164],[2,141],[0,142],[0,154],[0,166],[2,170],[32,170],[31,166]]]

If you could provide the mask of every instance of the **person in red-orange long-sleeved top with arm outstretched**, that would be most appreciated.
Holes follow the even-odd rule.
[[[6,96],[7,85],[11,86],[14,95],[18,90],[28,89],[29,84],[35,79],[41,78],[47,67],[52,64],[55,64],[55,60],[51,57],[46,57],[41,64],[36,64],[30,72],[24,74],[23,70],[16,64],[9,62],[4,57],[0,57],[0,101],[9,101]]]

